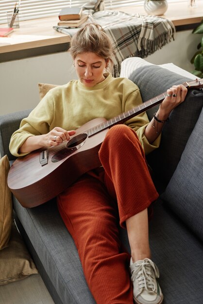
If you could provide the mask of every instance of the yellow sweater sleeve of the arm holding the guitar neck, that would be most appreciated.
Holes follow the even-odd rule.
[[[142,102],[143,101],[141,98],[141,94],[137,87],[135,91],[133,91],[127,96],[125,101],[125,111],[132,109],[133,107],[141,104]],[[134,118],[131,118],[126,121],[126,125],[128,125],[136,132],[146,155],[152,152],[154,149],[158,148],[161,140],[161,135],[159,135],[152,144],[149,143],[146,136],[144,135],[145,129],[149,123],[150,122],[146,112],[136,115]]]

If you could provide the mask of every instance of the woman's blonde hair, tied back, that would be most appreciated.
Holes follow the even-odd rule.
[[[105,60],[109,59],[113,65],[114,49],[112,41],[99,24],[86,24],[74,34],[68,51],[73,60],[78,54],[93,52]]]

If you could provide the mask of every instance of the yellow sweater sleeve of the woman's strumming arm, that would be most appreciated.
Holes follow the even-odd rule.
[[[23,118],[20,127],[13,133],[9,149],[14,156],[23,156],[28,153],[19,153],[18,150],[25,140],[34,135],[47,134],[50,131],[54,117],[54,102],[50,92],[38,103],[27,118]]]

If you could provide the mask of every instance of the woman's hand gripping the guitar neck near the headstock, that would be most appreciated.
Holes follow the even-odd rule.
[[[173,85],[167,90],[167,97],[159,107],[159,119],[167,119],[170,112],[186,98],[187,88],[183,84]]]

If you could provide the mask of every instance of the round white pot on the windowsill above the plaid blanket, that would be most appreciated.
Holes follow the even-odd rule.
[[[168,9],[167,0],[145,0],[144,9],[149,15],[164,15]]]

